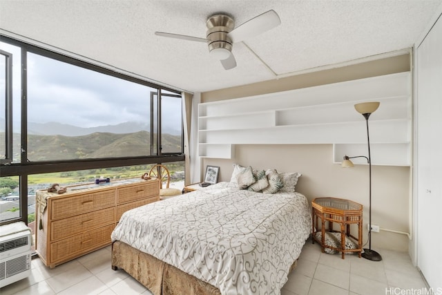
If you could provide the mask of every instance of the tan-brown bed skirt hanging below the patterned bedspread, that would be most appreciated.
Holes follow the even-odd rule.
[[[220,290],[124,242],[112,244],[112,269],[124,269],[154,295],[220,295]],[[296,261],[290,271],[296,267]]]

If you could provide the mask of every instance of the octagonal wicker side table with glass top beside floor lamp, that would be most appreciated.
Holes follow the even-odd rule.
[[[351,200],[340,198],[316,198],[311,202],[312,207],[312,242],[320,243],[322,251],[325,248],[340,251],[342,258],[345,258],[345,253],[358,252],[361,258],[362,252],[362,210],[363,206]],[[321,220],[321,227],[318,227],[318,218]],[[328,222],[328,231],[334,231],[333,222],[340,225],[340,248],[325,245],[325,222]],[[350,234],[350,225],[356,224],[358,227],[358,237]],[[316,239],[316,232],[321,231],[321,240]],[[351,237],[358,242],[358,248],[345,249],[345,236]]]

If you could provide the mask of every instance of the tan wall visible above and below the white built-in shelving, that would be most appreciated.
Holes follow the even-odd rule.
[[[202,93],[202,102],[343,82],[410,70],[410,55],[369,61],[246,86]],[[363,120],[363,117],[361,117]],[[365,130],[361,130],[365,132]],[[364,242],[367,240],[369,182],[368,166],[343,169],[333,164],[332,144],[244,144],[235,145],[231,160],[204,158],[206,165],[220,166],[220,181],[229,181],[232,164],[280,172],[298,171],[302,177],[297,191],[309,200],[321,196],[347,198],[364,205]],[[202,169],[204,171],[204,168]],[[372,167],[372,224],[396,231],[409,229],[410,167]],[[372,234],[372,249],[406,251],[408,238],[387,231]]]

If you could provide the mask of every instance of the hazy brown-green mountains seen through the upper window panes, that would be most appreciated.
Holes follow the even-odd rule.
[[[4,129],[4,127],[3,127]],[[1,126],[0,126],[1,130]],[[140,131],[141,130],[141,131]],[[81,128],[55,122],[28,126],[28,160],[73,160],[150,155],[151,133],[146,124],[126,122],[118,125]],[[168,133],[168,131],[170,133]],[[4,133],[0,132],[0,138]],[[14,133],[13,151],[20,151],[20,134]],[[0,141],[0,151],[4,151]],[[181,131],[164,130],[162,152],[181,151]],[[17,158],[19,155],[15,155]]]

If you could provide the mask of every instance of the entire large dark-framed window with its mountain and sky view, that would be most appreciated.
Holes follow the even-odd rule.
[[[184,185],[179,91],[9,38],[0,50],[0,224],[32,225],[35,191],[52,183],[162,163]]]

